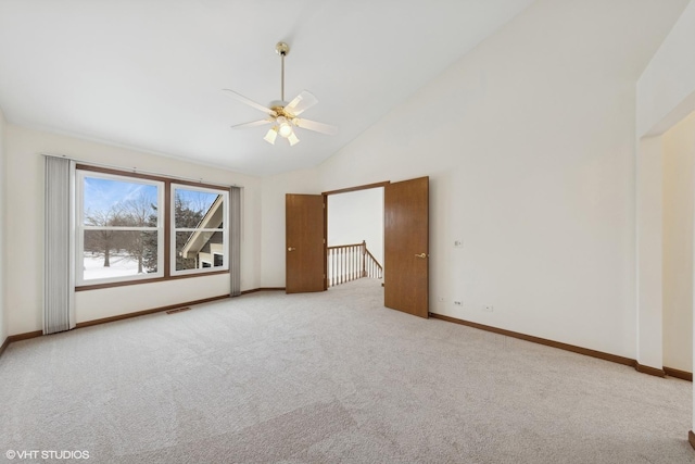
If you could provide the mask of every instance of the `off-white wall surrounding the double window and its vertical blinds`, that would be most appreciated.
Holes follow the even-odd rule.
[[[39,330],[43,288],[43,156],[63,154],[81,161],[137,168],[172,176],[202,179],[213,184],[243,187],[242,290],[260,287],[261,180],[217,167],[207,167],[170,158],[136,152],[73,137],[31,130],[9,124],[5,127],[5,176],[8,201],[3,210],[8,333]],[[11,199],[11,201],[10,201]],[[110,317],[135,311],[177,304],[229,293],[228,276],[205,276],[104,290],[78,292],[77,322]]]

